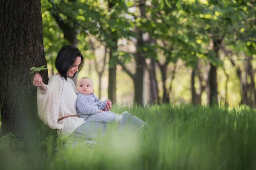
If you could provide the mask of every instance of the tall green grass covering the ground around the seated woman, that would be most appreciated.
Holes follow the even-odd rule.
[[[128,111],[148,126],[118,135],[111,129],[93,147],[84,142],[74,145],[44,127],[39,150],[20,151],[17,144],[2,148],[0,169],[256,169],[256,115],[250,108],[156,105],[113,111]]]

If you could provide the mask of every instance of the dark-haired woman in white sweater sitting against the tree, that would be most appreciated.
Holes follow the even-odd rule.
[[[76,113],[76,87],[68,78],[74,77],[76,72],[81,71],[84,65],[84,57],[81,51],[72,46],[64,45],[58,52],[55,68],[57,74],[53,75],[45,85],[39,74],[35,75],[33,85],[38,87],[38,115],[45,125],[52,129],[58,129],[63,135],[84,137],[93,139],[99,128],[103,131],[108,124],[102,122],[85,122]],[[111,105],[107,105],[105,111],[110,111]],[[130,113],[122,113],[123,120],[119,127],[133,125],[140,127],[145,122],[132,116]]]

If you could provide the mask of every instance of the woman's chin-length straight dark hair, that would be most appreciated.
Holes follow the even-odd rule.
[[[67,72],[76,61],[76,57],[81,57],[81,64],[78,66],[79,72],[84,66],[84,56],[78,48],[72,45],[64,45],[58,52],[57,58],[55,60],[55,68],[59,74],[61,74],[61,77],[64,77],[66,80]],[[76,73],[73,75],[73,77],[75,76]]]

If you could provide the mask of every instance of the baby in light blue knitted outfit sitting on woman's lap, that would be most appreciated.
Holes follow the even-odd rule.
[[[122,122],[122,115],[115,114],[111,111],[103,111],[108,103],[112,104],[109,99],[100,101],[93,94],[93,80],[89,77],[83,77],[78,82],[78,92],[76,100],[76,111],[79,117],[84,118],[87,122]]]

